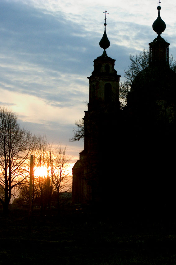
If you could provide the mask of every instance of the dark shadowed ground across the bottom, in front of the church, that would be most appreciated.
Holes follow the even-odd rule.
[[[175,264],[174,224],[68,209],[1,213],[1,264]]]

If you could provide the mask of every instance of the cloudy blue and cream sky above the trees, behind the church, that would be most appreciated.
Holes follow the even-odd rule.
[[[107,55],[124,81],[129,55],[148,50],[157,34],[157,0],[1,0],[0,105],[18,115],[21,126],[50,143],[62,143],[79,159],[83,141],[69,142],[76,120],[87,110],[93,60],[106,33]],[[176,59],[176,2],[161,0],[162,37]]]

